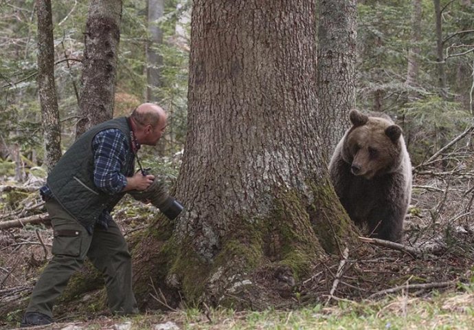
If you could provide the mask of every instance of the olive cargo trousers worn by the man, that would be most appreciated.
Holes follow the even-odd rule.
[[[132,291],[131,255],[117,224],[112,220],[108,229],[96,227],[91,235],[54,199],[45,206],[54,230],[53,258],[36,283],[26,312],[52,317],[56,298],[87,256],[105,277],[111,312],[138,313]]]

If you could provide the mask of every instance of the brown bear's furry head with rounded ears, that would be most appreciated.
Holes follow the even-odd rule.
[[[349,118],[352,127],[346,133],[342,157],[352,174],[372,179],[396,170],[405,145],[400,126],[388,116],[370,117],[357,110],[351,110]]]

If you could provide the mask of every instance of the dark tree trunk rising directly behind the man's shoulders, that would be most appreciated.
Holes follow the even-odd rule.
[[[76,139],[113,116],[122,0],[92,0],[84,34],[80,120]]]

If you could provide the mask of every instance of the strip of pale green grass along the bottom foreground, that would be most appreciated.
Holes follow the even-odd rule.
[[[150,313],[150,312],[149,312]],[[63,321],[64,322],[64,321]],[[232,309],[187,308],[177,312],[139,314],[131,318],[104,316],[74,322],[80,329],[473,329],[474,293],[435,294],[429,298],[392,296],[361,303],[341,300],[337,305],[314,305],[281,311],[234,311]],[[63,329],[58,323],[49,329]],[[0,329],[2,329],[0,327]],[[177,329],[177,328],[174,328]]]

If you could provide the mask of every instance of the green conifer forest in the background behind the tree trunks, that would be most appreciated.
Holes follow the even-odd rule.
[[[359,1],[357,7],[357,107],[396,118],[405,129],[414,164],[469,127],[472,117],[473,4],[442,3],[438,33],[434,3]],[[88,1],[52,5],[65,149],[77,121]],[[11,177],[11,163],[16,162],[15,179],[23,181],[28,168],[43,162],[35,5],[2,1],[0,8],[2,173]],[[190,8],[190,1],[164,1],[159,23],[148,23],[147,1],[124,2],[114,111],[127,113],[146,98],[163,104],[171,120],[161,155],[183,148]],[[150,63],[152,52],[159,61]],[[147,78],[149,70],[159,79],[151,81],[150,74]]]

